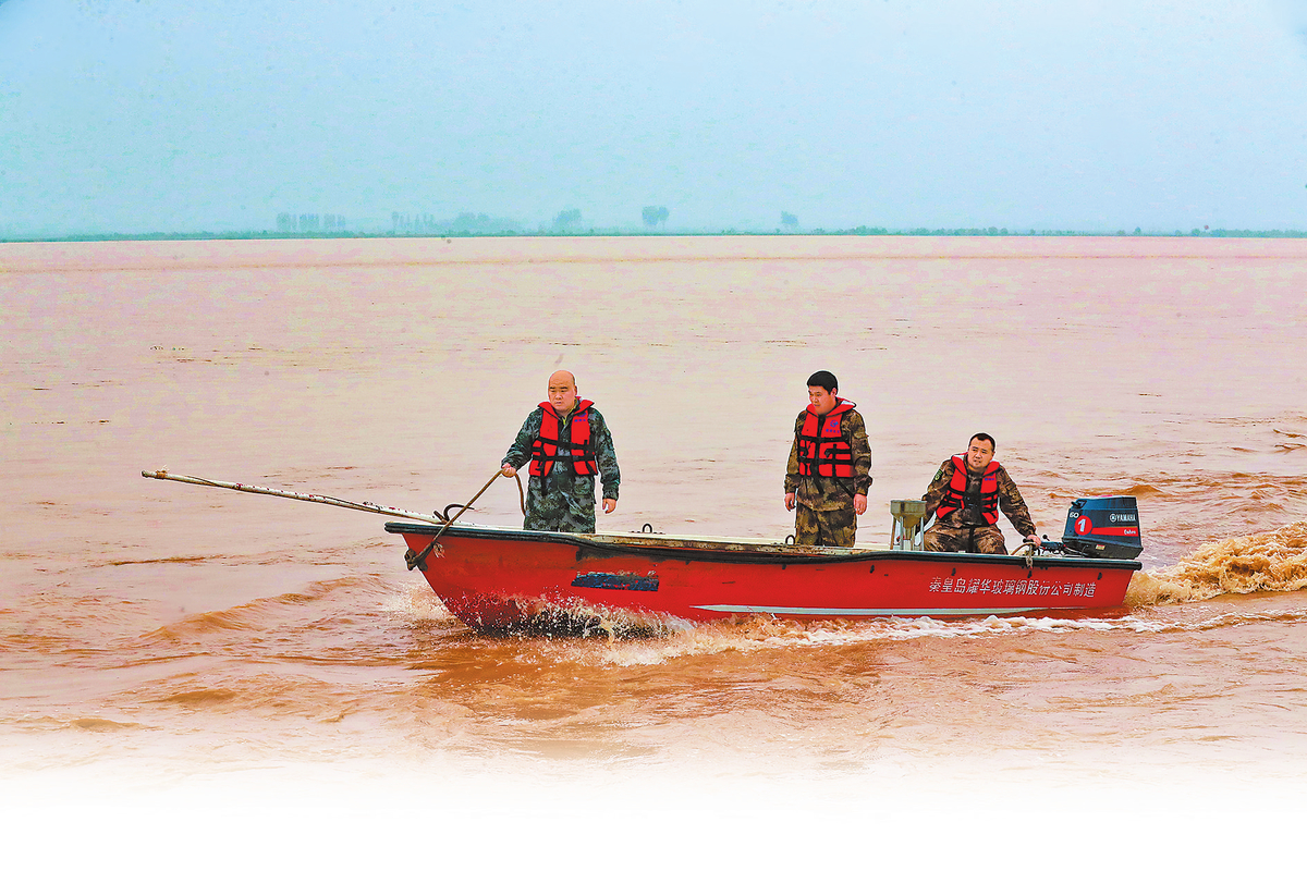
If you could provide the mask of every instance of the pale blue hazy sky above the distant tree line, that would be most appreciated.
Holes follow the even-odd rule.
[[[1307,229],[1307,0],[0,0],[0,236]]]

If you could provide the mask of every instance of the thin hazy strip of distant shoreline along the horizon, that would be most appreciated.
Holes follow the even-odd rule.
[[[806,230],[806,231],[746,231],[746,230],[698,230],[680,232],[642,232],[637,230],[591,230],[586,232],[97,232],[71,234],[64,236],[12,236],[0,238],[5,243],[34,242],[200,242],[200,240],[246,240],[246,239],[599,239],[599,238],[657,238],[657,236],[984,236],[984,238],[1043,238],[1081,236],[1103,239],[1307,239],[1307,230],[1176,230],[1174,232],[1144,232],[1117,230],[1098,232],[1087,230],[1038,230],[1029,232],[1009,232],[1006,229],[963,229],[963,230],[886,230],[884,227],[853,227],[851,230]]]

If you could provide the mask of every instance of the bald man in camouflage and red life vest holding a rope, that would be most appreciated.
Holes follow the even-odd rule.
[[[595,404],[576,396],[571,372],[549,376],[549,401],[527,415],[503,458],[506,478],[531,462],[524,529],[595,531],[595,475],[604,483],[604,513],[617,508],[622,482],[613,436]]]

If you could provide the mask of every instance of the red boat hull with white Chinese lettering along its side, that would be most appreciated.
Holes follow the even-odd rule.
[[[544,533],[389,522],[444,606],[486,632],[612,632],[766,614],[961,618],[1120,607],[1140,563],[805,547],[656,533]],[[437,534],[439,541],[422,556]],[[1137,530],[1134,531],[1137,535]]]

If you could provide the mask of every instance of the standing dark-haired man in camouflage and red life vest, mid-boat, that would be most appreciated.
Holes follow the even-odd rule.
[[[822,370],[808,379],[808,407],[795,420],[786,465],[786,511],[795,515],[795,543],[852,547],[857,515],[872,487],[872,448],[853,404]]]

